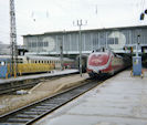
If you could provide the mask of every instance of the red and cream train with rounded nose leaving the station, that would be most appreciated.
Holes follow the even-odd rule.
[[[113,75],[125,69],[130,63],[129,58],[123,58],[109,50],[102,49],[93,52],[87,59],[87,73],[91,77],[102,76],[104,74]]]

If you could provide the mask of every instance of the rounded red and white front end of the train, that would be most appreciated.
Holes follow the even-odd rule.
[[[104,75],[111,70],[111,53],[95,52],[87,60],[87,73],[91,77]]]

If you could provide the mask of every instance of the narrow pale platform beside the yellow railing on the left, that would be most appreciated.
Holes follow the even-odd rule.
[[[0,84],[25,81],[25,80],[34,80],[34,79],[41,79],[41,77],[53,77],[53,76],[73,74],[73,73],[78,73],[78,70],[71,69],[71,70],[64,70],[64,71],[52,71],[51,73],[30,74],[30,75],[23,75],[18,77],[10,77],[8,80],[0,79]]]

